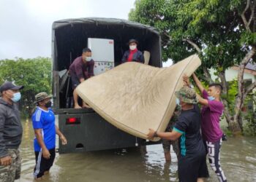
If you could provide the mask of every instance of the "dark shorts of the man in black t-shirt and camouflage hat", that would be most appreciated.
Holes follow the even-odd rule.
[[[179,157],[178,159],[178,181],[197,182],[197,178],[208,178],[206,165],[206,154],[195,154],[195,156]]]

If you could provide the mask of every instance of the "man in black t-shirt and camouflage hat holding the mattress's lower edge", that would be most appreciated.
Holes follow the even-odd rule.
[[[208,178],[206,149],[200,134],[200,109],[195,91],[182,87],[175,93],[177,104],[181,106],[178,122],[172,132],[157,132],[149,129],[148,138],[179,139],[178,179],[183,182],[203,181]]]

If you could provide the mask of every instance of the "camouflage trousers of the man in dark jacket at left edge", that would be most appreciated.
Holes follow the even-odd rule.
[[[12,164],[8,166],[0,165],[0,181],[12,182],[20,178],[21,157],[19,149],[7,149],[12,157]]]

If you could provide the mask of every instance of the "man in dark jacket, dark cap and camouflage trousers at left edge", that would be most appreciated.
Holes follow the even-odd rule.
[[[5,82],[0,87],[0,181],[20,178],[20,151],[22,125],[17,102],[23,86]]]

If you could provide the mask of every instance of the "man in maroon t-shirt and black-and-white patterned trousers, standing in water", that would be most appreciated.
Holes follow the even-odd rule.
[[[195,74],[192,74],[198,89],[203,97],[197,95],[199,103],[203,106],[201,111],[202,117],[202,136],[205,145],[207,146],[208,159],[211,168],[217,174],[219,181],[227,181],[219,162],[219,152],[222,146],[223,132],[219,127],[219,119],[222,116],[224,106],[220,100],[222,93],[222,85],[213,83],[208,86],[208,91],[203,87],[200,80]],[[184,82],[189,85],[189,77],[184,76]]]

